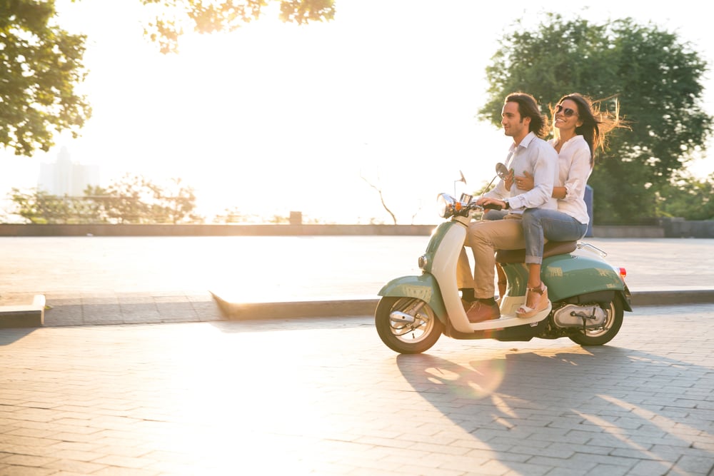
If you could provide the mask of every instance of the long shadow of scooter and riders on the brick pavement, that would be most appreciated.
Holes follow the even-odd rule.
[[[473,435],[477,450],[497,452],[514,471],[553,459],[581,462],[583,472],[617,469],[610,474],[640,460],[648,474],[714,470],[712,410],[696,407],[710,368],[610,346],[508,352],[468,366],[426,354],[396,361],[421,397]],[[696,395],[689,402],[688,392]]]

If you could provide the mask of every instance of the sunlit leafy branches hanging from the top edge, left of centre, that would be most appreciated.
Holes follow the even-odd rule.
[[[234,31],[259,19],[268,4],[280,4],[282,21],[306,24],[335,16],[334,0],[141,0],[159,14],[144,34],[159,44],[162,53],[176,53],[178,39],[188,30],[197,33]]]

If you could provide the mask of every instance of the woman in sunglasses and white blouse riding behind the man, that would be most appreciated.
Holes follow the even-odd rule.
[[[558,210],[531,208],[523,213],[528,292],[526,303],[516,310],[519,318],[530,318],[548,308],[548,288],[540,280],[545,239],[569,241],[585,236],[590,223],[585,185],[593,171],[595,150],[604,149],[605,134],[621,126],[617,102],[613,115],[600,113],[590,98],[579,93],[560,98],[551,113],[555,133],[549,143],[558,151],[558,177],[553,186]],[[516,176],[514,182],[522,190],[533,188],[531,176]]]

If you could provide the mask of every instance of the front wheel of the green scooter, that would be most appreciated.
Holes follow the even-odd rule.
[[[381,298],[374,323],[382,342],[401,354],[425,352],[436,344],[443,332],[443,324],[434,311],[416,298]]]

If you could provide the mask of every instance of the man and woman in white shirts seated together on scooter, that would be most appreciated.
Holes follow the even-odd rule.
[[[516,315],[530,318],[548,308],[548,289],[540,280],[543,245],[546,239],[585,236],[590,221],[585,185],[593,170],[595,149],[603,147],[607,131],[619,126],[617,111],[614,116],[601,114],[589,98],[578,93],[558,101],[553,111],[555,137],[548,142],[548,118],[530,94],[508,95],[501,115],[504,133],[513,138],[506,159],[511,173],[476,203],[498,205],[508,213],[500,220],[471,223],[465,245],[473,251],[475,269],[472,275],[466,250],[461,251],[457,268],[464,308],[472,323],[501,317],[494,299],[498,249],[526,248],[528,293]]]

